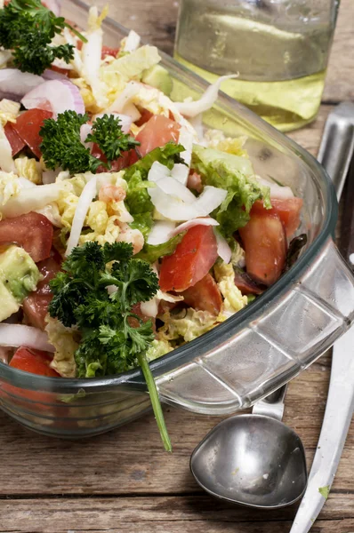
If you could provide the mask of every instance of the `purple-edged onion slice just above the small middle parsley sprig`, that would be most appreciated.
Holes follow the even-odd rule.
[[[27,109],[48,110],[50,107],[54,116],[68,110],[84,114],[84,100],[78,87],[64,78],[38,85],[21,99],[21,103]]]

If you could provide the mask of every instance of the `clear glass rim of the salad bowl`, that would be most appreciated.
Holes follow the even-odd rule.
[[[89,9],[89,6],[81,2],[81,0],[70,0],[70,2],[86,11]],[[117,29],[121,35],[128,34],[129,30],[116,20],[107,18],[105,21],[107,21],[110,27]],[[180,72],[182,75],[188,76],[194,84],[197,84],[204,90],[209,85],[203,78],[180,65],[171,56],[165,54],[165,52],[159,51],[159,53],[173,68],[174,74]],[[211,346],[219,346],[221,342],[235,335],[237,330],[244,328],[248,322],[260,314],[262,308],[268,306],[274,299],[280,298],[294,282],[300,279],[306,267],[313,263],[318,253],[325,246],[328,238],[334,234],[334,227],[338,217],[338,203],[333,183],[325,169],[313,155],[310,155],[309,152],[300,147],[294,140],[286,138],[285,135],[277,131],[269,123],[263,121],[258,115],[255,115],[252,111],[222,91],[220,91],[219,103],[226,105],[228,110],[234,111],[236,115],[237,112],[242,112],[245,119],[248,118],[253,125],[258,126],[261,131],[268,133],[270,137],[276,135],[277,139],[282,139],[283,144],[291,151],[296,152],[302,161],[318,175],[318,184],[321,186],[321,192],[325,198],[323,207],[326,212],[326,219],[324,220],[320,233],[313,243],[310,244],[309,249],[296,261],[294,267],[286,272],[286,274],[283,274],[278,282],[266,290],[261,297],[254,300],[252,305],[246,306],[237,314],[231,316],[226,322],[222,322],[219,326],[208,331],[201,337],[150,362],[149,366],[155,377],[175,370],[183,364],[192,362],[197,354],[203,354],[209,351]],[[84,389],[86,393],[109,392],[116,386],[125,386],[131,390],[146,390],[145,380],[140,369],[129,370],[122,374],[105,378],[47,378],[37,376],[36,374],[29,374],[23,370],[13,369],[4,362],[0,362],[0,378],[4,378],[6,382],[20,388],[50,391],[57,394],[75,394],[79,389]]]

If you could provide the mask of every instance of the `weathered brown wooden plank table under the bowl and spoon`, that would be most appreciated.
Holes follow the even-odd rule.
[[[101,4],[106,4],[103,0]],[[111,3],[113,4],[113,2]],[[172,52],[177,2],[115,0],[111,15]],[[342,0],[318,119],[291,137],[316,155],[334,104],[354,99],[354,2]],[[285,422],[300,434],[308,464],[326,405],[330,359],[291,383]],[[189,473],[189,455],[219,421],[165,409],[173,454],[161,447],[152,415],[81,442],[31,434],[0,414],[0,533],[286,533],[296,505],[257,512],[207,497]],[[354,532],[354,425],[314,533]]]

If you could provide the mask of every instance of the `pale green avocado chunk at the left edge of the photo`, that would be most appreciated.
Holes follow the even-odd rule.
[[[0,322],[20,309],[40,277],[36,263],[22,248],[13,245],[0,254]]]

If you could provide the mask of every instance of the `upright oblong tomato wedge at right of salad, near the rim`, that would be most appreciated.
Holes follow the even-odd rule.
[[[271,285],[280,277],[286,262],[286,232],[276,213],[264,211],[253,213],[238,231],[245,247],[247,274]]]

